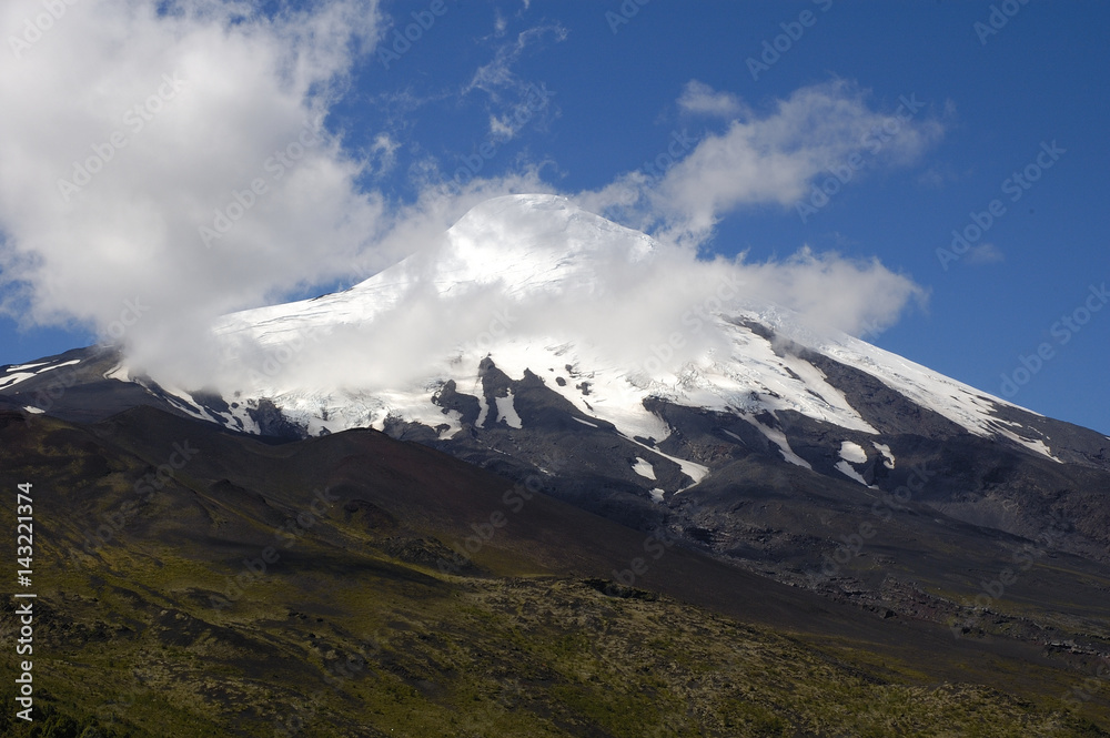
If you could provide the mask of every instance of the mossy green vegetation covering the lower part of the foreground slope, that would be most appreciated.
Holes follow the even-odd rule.
[[[135,737],[1107,735],[985,687],[878,679],[828,651],[665,597],[615,598],[596,583],[447,577],[394,564],[421,583],[291,570],[224,610],[203,596],[216,577],[194,566],[190,584],[188,564],[168,550],[121,556],[109,567],[115,574],[85,572],[83,585],[71,568],[64,594],[40,596],[44,711],[30,729],[6,715],[0,729]],[[334,597],[299,605],[309,579]],[[99,732],[88,734],[91,726]]]

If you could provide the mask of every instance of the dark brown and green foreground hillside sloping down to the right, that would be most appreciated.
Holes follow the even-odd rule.
[[[4,493],[34,484],[39,595],[39,719],[6,709],[2,735],[1110,735],[1098,698],[1062,709],[1078,671],[644,547],[380,434],[0,419]],[[650,570],[614,585],[637,555]]]

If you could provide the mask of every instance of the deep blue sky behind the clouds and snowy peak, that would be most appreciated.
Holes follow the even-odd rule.
[[[351,196],[372,192],[374,203],[390,212],[407,212],[436,186],[442,194],[445,183],[450,195],[452,176],[467,161],[480,161],[475,156],[482,164],[476,179],[490,194],[525,183],[572,195],[597,193],[644,172],[644,163],[675,141],[688,144],[680,160],[698,144],[720,140],[734,121],[774,121],[781,101],[799,91],[831,91],[836,101],[884,121],[897,120],[891,117],[905,100],[915,107],[919,101],[905,125],[892,127],[894,133],[876,131],[871,139],[887,137],[889,143],[834,149],[839,158],[827,163],[841,172],[849,155],[859,154],[846,183],[829,182],[834,175],[818,171],[801,176],[800,191],[784,185],[734,196],[713,211],[712,228],[694,229],[693,241],[703,254],[747,252],[749,262],[783,260],[804,245],[848,259],[878,259],[919,285],[927,300],[910,301],[894,325],[865,337],[1037,412],[1110,433],[1110,384],[1104,382],[1110,309],[1094,310],[1103,306],[1101,285],[1110,281],[1104,241],[1110,211],[1102,202],[1110,172],[1104,124],[1110,9],[1104,3],[444,0],[386,2],[376,13],[373,3],[347,4],[365,21],[356,29],[362,39],[341,39],[335,46],[346,50],[343,58],[319,62],[326,69],[313,79],[329,82],[329,92],[319,95],[305,84],[304,95],[316,97],[302,108],[324,115],[324,128],[335,137],[330,140],[337,146],[331,152],[335,161],[360,163],[356,172],[347,171]],[[31,2],[3,17],[9,47],[37,7]],[[51,34],[60,39],[69,32],[67,23],[85,22],[80,12],[74,6],[70,18],[57,20],[58,30],[23,50],[19,57],[24,58],[12,52],[0,63],[49,64]],[[395,31],[418,19],[428,26],[420,38],[407,49],[394,47]],[[351,24],[350,18],[343,22]],[[359,43],[361,53],[352,52]],[[776,43],[779,51],[766,51]],[[763,63],[755,74],[753,59]],[[54,65],[62,67],[61,60]],[[119,69],[109,71],[118,74]],[[112,79],[108,74],[103,79]],[[244,90],[231,100],[239,102],[213,105],[204,119],[220,122],[226,115],[231,122],[219,130],[234,130],[235,105],[269,89],[250,79],[236,81]],[[281,114],[279,88],[258,109]],[[522,117],[523,123],[512,123],[537,91],[545,102]],[[12,98],[3,101],[6,111],[23,107],[24,135],[46,124],[36,121],[32,102],[17,88],[0,88],[0,95]],[[192,104],[188,95],[186,88],[182,110]],[[80,95],[56,94],[48,102],[56,117],[90,104]],[[165,101],[163,120],[175,114],[169,112],[173,103]],[[46,105],[40,108],[46,115]],[[151,130],[161,123],[153,121]],[[815,131],[820,123],[813,122]],[[193,132],[196,145],[212,142],[196,125],[182,130]],[[171,135],[161,129],[151,135],[163,133]],[[80,142],[74,151],[100,140],[95,130],[83,139],[67,135]],[[180,140],[183,133],[175,135]],[[234,151],[233,137],[220,135],[221,145]],[[11,131],[8,139],[19,142]],[[787,145],[810,143],[800,137]],[[261,160],[246,160],[245,169],[226,173],[228,188],[250,181],[242,172],[258,169]],[[214,169],[204,175],[219,183]],[[1022,172],[1036,178],[1025,182],[1027,188],[1012,179]],[[817,202],[813,189],[826,182],[836,190],[827,204],[800,213],[798,203]],[[683,186],[692,198],[702,196],[689,181]],[[34,274],[28,254],[36,252],[23,246],[34,231],[17,225],[28,206],[20,204],[22,195],[12,194],[16,184],[4,192],[0,226],[8,247],[0,267],[7,279],[0,289],[11,314],[0,317],[0,363],[58,353],[103,335],[110,325],[104,316],[113,307],[82,311],[77,302],[82,289],[89,290],[90,302],[100,300],[95,289],[78,277],[56,284],[41,273],[28,276]],[[989,213],[996,200],[1001,214],[990,215],[992,222],[971,249],[942,264],[938,249],[951,244],[952,231],[973,225],[973,214]],[[657,212],[645,215],[633,208],[606,214],[630,225],[663,228]],[[986,215],[978,218],[986,223]],[[976,228],[968,233],[975,235]],[[305,233],[319,232],[305,228]],[[229,261],[228,269],[245,267]],[[203,277],[189,269],[175,273],[182,272],[182,279]],[[105,269],[97,279],[111,281],[113,274]],[[316,294],[356,279],[341,269],[300,280],[275,276],[241,295],[243,304],[219,304],[249,306]],[[61,290],[78,296],[65,302],[57,296]],[[105,304],[118,304],[113,301]],[[1041,356],[1033,358],[1038,351]],[[1005,385],[1003,375],[1016,382]]]

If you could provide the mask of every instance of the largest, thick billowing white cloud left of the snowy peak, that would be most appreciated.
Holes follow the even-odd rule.
[[[9,313],[105,338],[138,297],[149,311],[125,340],[186,361],[212,316],[367,257],[382,201],[321,120],[377,13],[163,4],[68,6],[0,64],[0,280]],[[41,10],[6,2],[0,28]],[[218,210],[240,218],[205,247]]]

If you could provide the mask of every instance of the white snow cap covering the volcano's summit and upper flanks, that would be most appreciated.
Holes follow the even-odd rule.
[[[996,407],[1009,403],[846,334],[815,333],[796,314],[749,299],[743,281],[734,285],[739,294],[731,303],[710,302],[706,294],[722,289],[706,280],[726,269],[704,264],[702,276],[684,281],[667,269],[673,257],[649,236],[565,198],[496,198],[463,216],[441,242],[350,290],[222,319],[215,333],[229,357],[253,347],[268,363],[244,368],[236,386],[221,390],[225,397],[240,392],[244,400],[270,398],[310,433],[381,429],[397,418],[448,438],[461,429],[460,417],[432,397],[454,381],[458,392],[478,398],[478,427],[490,416],[525,427],[528,419],[517,414],[512,396],[487,406],[480,364],[488,357],[514,381],[531,372],[583,417],[612,423],[629,439],[657,444],[670,435],[644,406],[650,397],[739,415],[784,458],[805,467],[786,436],[757,415],[794,411],[877,435],[820,370],[749,327],[759,324],[878,377],[971,433],[1017,438],[993,417]],[[660,291],[666,301],[658,300]],[[673,313],[675,300],[697,310],[673,315],[657,306],[662,302]],[[174,394],[186,412],[195,412],[188,393]],[[1018,439],[1050,456],[1043,443]],[[876,448],[892,466],[889,451],[877,442]],[[856,444],[841,455],[866,459]],[[708,472],[675,461],[695,482]]]

